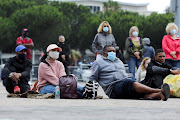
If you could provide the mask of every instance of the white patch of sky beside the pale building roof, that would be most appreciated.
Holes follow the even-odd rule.
[[[114,0],[128,3],[149,3],[148,10],[158,13],[165,13],[165,9],[170,6],[170,0]]]

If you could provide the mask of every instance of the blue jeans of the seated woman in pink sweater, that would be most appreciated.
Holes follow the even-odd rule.
[[[56,86],[54,86],[54,85],[46,85],[41,89],[40,94],[54,93],[55,88],[56,88]],[[80,96],[82,96],[83,89],[84,89],[83,86],[81,86],[80,84],[77,84],[77,92],[80,94]]]

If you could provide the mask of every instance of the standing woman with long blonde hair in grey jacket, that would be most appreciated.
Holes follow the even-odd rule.
[[[111,26],[107,21],[103,21],[97,30],[97,34],[94,37],[92,43],[92,50],[96,54],[96,60],[99,59],[103,54],[103,48],[106,45],[113,45],[116,47],[116,41],[112,34]]]

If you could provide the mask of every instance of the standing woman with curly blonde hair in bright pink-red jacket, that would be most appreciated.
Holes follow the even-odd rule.
[[[162,40],[162,48],[165,52],[166,63],[172,67],[180,68],[180,37],[177,35],[178,27],[174,23],[166,26],[166,33]]]

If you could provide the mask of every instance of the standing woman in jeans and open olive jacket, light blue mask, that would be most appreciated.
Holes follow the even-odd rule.
[[[139,67],[144,54],[144,45],[142,40],[138,37],[139,29],[136,26],[132,26],[129,30],[129,36],[125,43],[125,58],[128,60],[129,72],[133,74],[133,80],[135,80],[135,68]]]

